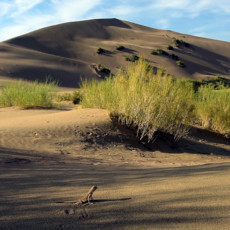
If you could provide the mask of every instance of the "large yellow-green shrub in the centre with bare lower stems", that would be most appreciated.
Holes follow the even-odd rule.
[[[180,139],[193,117],[193,84],[173,79],[140,59],[105,81],[83,81],[85,107],[108,109],[123,124],[137,128],[140,139],[153,140],[157,132]]]

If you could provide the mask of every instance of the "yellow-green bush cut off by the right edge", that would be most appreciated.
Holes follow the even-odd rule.
[[[214,85],[201,86],[197,92],[196,115],[204,128],[230,133],[230,90],[215,90]]]

